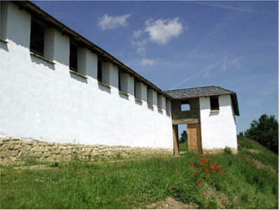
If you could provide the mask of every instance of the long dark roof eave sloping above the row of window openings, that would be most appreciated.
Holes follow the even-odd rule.
[[[76,31],[73,31],[69,27],[66,27],[62,22],[59,22],[55,18],[53,18],[50,14],[46,13],[44,10],[36,6],[36,4],[32,3],[31,1],[13,1],[13,3],[20,6],[20,8],[24,8],[25,10],[29,11],[32,15],[34,15],[34,18],[38,20],[44,20],[48,23],[49,26],[55,27],[59,31],[62,31],[63,34],[66,34],[69,36],[69,38],[72,38],[76,40],[80,45],[83,45],[85,48],[88,48],[89,50],[92,50],[92,52],[96,53],[97,55],[101,56],[104,60],[110,61],[113,64],[116,64],[118,67],[123,69],[124,71],[127,71],[128,73],[131,73],[137,80],[140,82],[148,85],[148,87],[153,88],[160,92],[160,94],[163,94],[165,97],[169,97],[169,99],[172,99],[172,97],[169,96],[169,94],[166,94],[163,90],[161,90],[159,87],[151,83],[149,80],[144,78],[143,76],[139,75],[139,73],[135,72],[134,70],[130,69],[129,66],[123,64],[123,62],[120,62],[116,57],[113,57],[113,55],[109,54],[109,52],[106,52],[104,49],[100,48],[96,44],[89,41],[87,38],[81,36]]]

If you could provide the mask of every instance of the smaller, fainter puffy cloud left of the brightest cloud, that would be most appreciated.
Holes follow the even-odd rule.
[[[127,19],[130,18],[131,14],[125,14],[120,16],[109,16],[107,14],[99,18],[98,25],[103,30],[105,29],[116,29],[117,27],[125,27],[128,25]]]

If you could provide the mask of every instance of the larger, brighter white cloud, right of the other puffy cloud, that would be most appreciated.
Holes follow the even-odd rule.
[[[153,20],[146,20],[146,32],[150,35],[151,41],[156,43],[165,44],[171,38],[177,37],[183,33],[183,25],[179,22],[179,18],[174,18],[173,20],[158,19],[153,22]]]

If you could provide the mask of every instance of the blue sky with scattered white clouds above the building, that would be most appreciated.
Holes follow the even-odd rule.
[[[262,113],[278,119],[277,1],[34,3],[162,90],[237,92],[237,132]]]

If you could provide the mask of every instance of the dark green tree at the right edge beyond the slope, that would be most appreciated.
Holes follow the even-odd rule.
[[[246,130],[244,135],[278,154],[278,126],[275,116],[263,114],[258,120],[253,120],[250,129]]]

